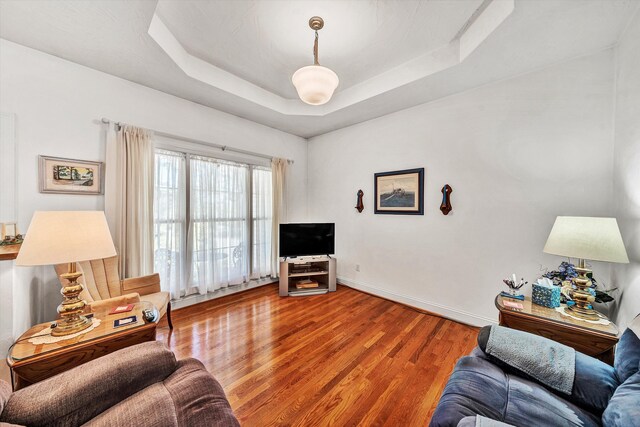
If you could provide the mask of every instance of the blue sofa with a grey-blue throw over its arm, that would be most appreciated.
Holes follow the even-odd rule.
[[[500,424],[491,420],[518,427],[640,426],[640,339],[634,332],[640,331],[640,316],[620,338],[613,367],[576,352],[571,395],[485,353],[489,328],[480,330],[478,347],[456,364],[431,427]]]

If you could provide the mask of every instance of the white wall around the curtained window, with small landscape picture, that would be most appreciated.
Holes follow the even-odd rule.
[[[6,40],[0,40],[0,94],[0,111],[16,117],[17,220],[22,230],[35,210],[103,209],[103,196],[39,193],[37,169],[40,154],[104,161],[102,117],[293,159],[289,217],[306,219],[307,144],[302,138]],[[52,267],[15,270],[24,275],[23,292],[13,295],[19,306],[14,309],[15,329],[24,331],[54,317],[59,285]],[[0,307],[4,310],[6,304],[2,301]]]

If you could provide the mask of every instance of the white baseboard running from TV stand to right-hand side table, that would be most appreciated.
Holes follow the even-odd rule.
[[[486,326],[487,324],[497,325],[498,322],[495,319],[488,317],[478,316],[477,314],[469,313],[456,308],[447,307],[442,304],[424,301],[422,299],[408,297],[406,295],[397,294],[395,292],[389,292],[384,289],[369,285],[367,283],[345,279],[338,277],[338,283],[348,286],[353,289],[366,292],[380,298],[388,299],[390,301],[398,302],[410,307],[424,310],[429,313],[436,314],[438,316],[445,317],[447,319],[455,320],[456,322],[464,323],[471,326]]]

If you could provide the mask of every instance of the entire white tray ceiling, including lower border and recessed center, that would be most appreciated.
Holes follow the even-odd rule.
[[[640,5],[512,2],[0,0],[0,37],[310,137],[610,47]],[[312,62],[313,15],[340,77],[321,107],[290,82]]]

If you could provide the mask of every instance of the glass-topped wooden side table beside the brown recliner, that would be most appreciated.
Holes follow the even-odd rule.
[[[104,307],[95,312],[94,316],[100,319],[100,325],[74,338],[37,345],[28,341],[29,337],[41,335],[51,322],[36,325],[22,334],[7,356],[14,391],[122,348],[155,341],[160,316],[153,304],[139,302],[132,311],[116,315],[109,315],[110,309],[111,307]],[[142,310],[145,309],[153,311],[154,320],[143,320]],[[137,322],[119,328],[113,327],[114,320],[132,315],[137,316]]]

